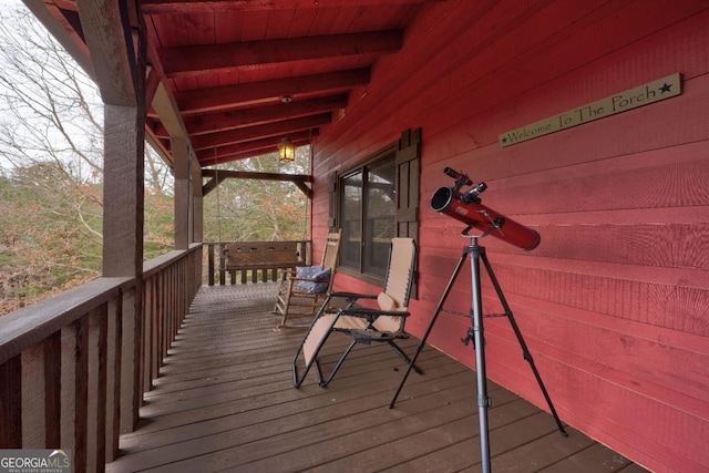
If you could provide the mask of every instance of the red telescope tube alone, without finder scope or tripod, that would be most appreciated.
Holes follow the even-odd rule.
[[[431,208],[470,225],[483,232],[484,235],[492,235],[527,251],[536,248],[542,240],[536,230],[482,204],[464,202],[462,196],[452,187],[441,187],[431,197]]]

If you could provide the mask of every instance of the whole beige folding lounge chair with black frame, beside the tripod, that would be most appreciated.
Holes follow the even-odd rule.
[[[417,247],[412,238],[393,238],[382,292],[379,295],[356,292],[330,292],[327,295],[292,360],[296,388],[302,384],[308,371],[314,366],[318,383],[321,387],[328,385],[357,343],[371,345],[373,341],[388,343],[407,363],[411,362],[394,340],[409,337],[404,331],[404,322],[409,317],[408,305],[415,255]],[[332,309],[330,301],[336,298],[345,299],[347,305],[340,309]],[[378,308],[356,306],[359,300],[363,299],[376,300]],[[333,332],[348,333],[352,341],[328,378],[323,380],[318,363],[318,353]],[[421,372],[415,367],[414,370]]]

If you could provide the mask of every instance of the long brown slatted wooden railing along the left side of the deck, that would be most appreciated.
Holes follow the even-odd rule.
[[[202,285],[202,245],[0,317],[0,449],[65,449],[104,471]]]

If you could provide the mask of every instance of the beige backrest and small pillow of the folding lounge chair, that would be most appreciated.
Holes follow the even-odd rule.
[[[417,260],[417,244],[413,238],[392,238],[387,277],[383,294],[379,295],[378,304],[382,310],[401,310],[409,307],[413,270]],[[403,318],[380,317],[374,327],[378,330],[402,330]]]

